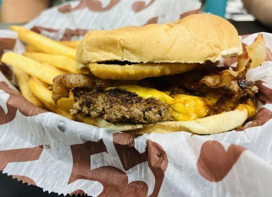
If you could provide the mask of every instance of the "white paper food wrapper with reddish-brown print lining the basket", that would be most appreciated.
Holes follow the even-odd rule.
[[[92,29],[166,23],[199,8],[197,0],[75,1],[44,11],[26,27],[70,40]],[[271,196],[272,34],[263,35],[266,61],[247,72],[259,87],[256,115],[239,129],[212,135],[136,135],[75,122],[24,99],[12,85],[12,70],[1,65],[7,78],[0,72],[0,170],[64,195]],[[241,36],[243,45],[256,36]],[[1,30],[0,43],[2,52],[24,52],[15,32]]]

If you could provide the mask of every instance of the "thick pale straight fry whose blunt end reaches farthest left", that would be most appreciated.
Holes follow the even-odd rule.
[[[65,73],[63,70],[60,70],[54,66],[41,64],[14,52],[4,53],[1,61],[10,66],[21,68],[29,75],[33,75],[50,85],[53,84],[53,79],[56,76]]]

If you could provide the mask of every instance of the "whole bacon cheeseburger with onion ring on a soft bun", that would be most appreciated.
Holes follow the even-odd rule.
[[[229,131],[255,114],[258,88],[245,75],[265,50],[260,34],[243,53],[237,30],[212,14],[91,31],[76,54],[89,73],[57,76],[52,98],[72,92],[72,115],[118,131]],[[224,66],[229,57],[238,64]]]

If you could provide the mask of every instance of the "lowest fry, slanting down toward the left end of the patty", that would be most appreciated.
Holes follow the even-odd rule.
[[[74,119],[70,115],[69,111],[66,109],[60,108],[55,104],[55,101],[52,99],[52,91],[48,90],[43,84],[39,81],[38,78],[32,76],[29,80],[29,87],[31,92],[40,99],[41,102],[52,112],[65,116],[69,119]]]

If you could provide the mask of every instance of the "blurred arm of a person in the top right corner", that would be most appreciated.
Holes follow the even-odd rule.
[[[272,0],[243,0],[243,3],[256,19],[272,27]]]

